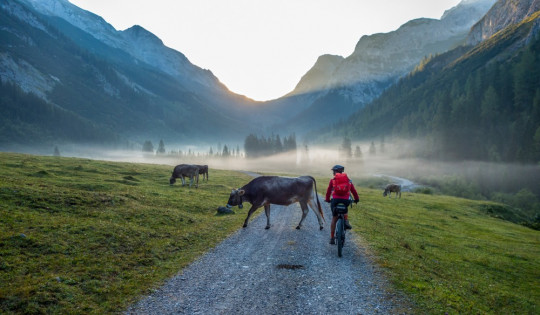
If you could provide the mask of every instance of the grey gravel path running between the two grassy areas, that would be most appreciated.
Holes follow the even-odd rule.
[[[319,196],[320,197],[320,196]],[[311,212],[301,230],[298,204],[272,205],[272,227],[263,213],[170,279],[126,314],[398,314],[402,296],[389,293],[381,274],[351,242],[337,257]],[[239,215],[239,214],[236,214]],[[242,214],[243,215],[243,214]],[[353,227],[354,229],[354,227]]]

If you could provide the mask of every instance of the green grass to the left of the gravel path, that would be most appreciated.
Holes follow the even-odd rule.
[[[1,314],[119,312],[245,218],[216,215],[250,179],[236,172],[211,169],[189,189],[169,186],[171,166],[0,160]]]

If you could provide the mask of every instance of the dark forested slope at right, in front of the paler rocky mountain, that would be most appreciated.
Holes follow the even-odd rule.
[[[539,17],[424,60],[323,137],[422,140],[402,154],[442,160],[539,162]]]

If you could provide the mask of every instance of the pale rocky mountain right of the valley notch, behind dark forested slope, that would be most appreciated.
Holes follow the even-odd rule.
[[[277,101],[302,109],[280,127],[300,122],[309,128],[348,117],[413,70],[423,58],[463,44],[470,28],[494,3],[462,1],[439,20],[419,18],[393,32],[362,36],[346,58],[319,57],[296,88]]]

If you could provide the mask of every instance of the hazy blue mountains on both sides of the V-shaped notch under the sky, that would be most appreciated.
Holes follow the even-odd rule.
[[[363,36],[348,57],[320,56],[289,94],[255,102],[140,26],[117,31],[66,0],[2,1],[0,148],[302,135],[358,113],[420,63],[478,45],[537,7],[537,0],[464,0],[441,19]]]

